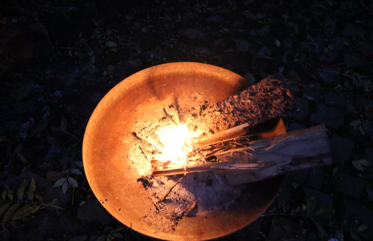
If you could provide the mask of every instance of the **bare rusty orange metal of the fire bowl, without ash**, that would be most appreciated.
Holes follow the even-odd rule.
[[[83,140],[84,171],[102,206],[133,230],[164,240],[214,239],[259,217],[276,196],[281,177],[241,185],[234,202],[183,216],[171,230],[159,228],[165,219],[162,214],[146,217],[144,222],[155,207],[150,190],[137,181],[141,176],[129,159],[138,120],[151,123],[163,116],[163,107],[183,107],[198,93],[216,103],[248,85],[246,79],[227,69],[179,62],[143,69],[112,88],[92,113]],[[264,136],[284,133],[282,120],[269,122],[263,132]]]

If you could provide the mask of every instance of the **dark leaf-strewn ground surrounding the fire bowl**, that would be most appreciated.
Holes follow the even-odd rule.
[[[124,2],[1,1],[2,240],[152,240],[96,200],[81,145],[109,89],[175,61],[252,82],[279,71],[299,106],[287,129],[329,130],[335,164],[287,175],[271,207],[222,241],[372,240],[372,1]]]

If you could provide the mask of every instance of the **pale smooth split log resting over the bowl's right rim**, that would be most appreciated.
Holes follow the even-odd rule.
[[[264,166],[254,172],[227,170],[224,172],[228,182],[237,185],[255,182],[302,169],[333,164],[329,139],[324,124],[307,129],[295,130],[272,138],[259,139],[250,145],[254,151],[235,151],[224,153],[224,160],[242,160],[250,156],[251,163]],[[256,147],[257,146],[257,147]],[[250,155],[250,153],[252,153]],[[246,159],[247,160],[247,159]]]

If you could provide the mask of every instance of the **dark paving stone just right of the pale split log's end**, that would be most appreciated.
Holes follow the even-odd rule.
[[[345,162],[352,156],[355,143],[350,139],[333,135],[330,138],[330,148],[332,150],[333,159],[337,162]]]

